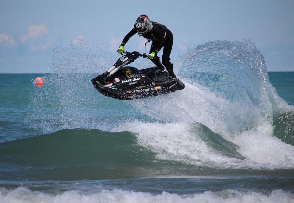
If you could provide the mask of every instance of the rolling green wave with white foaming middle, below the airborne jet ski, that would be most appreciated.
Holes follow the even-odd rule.
[[[164,130],[171,124],[135,124],[133,132],[68,129],[1,142],[0,180],[244,175],[252,169],[266,174],[258,170],[270,168],[245,159],[236,144],[200,123],[178,124],[172,132]],[[151,133],[152,126],[161,126],[162,131]],[[184,128],[186,134],[179,134]],[[270,174],[286,175],[292,170],[271,167],[282,170]]]

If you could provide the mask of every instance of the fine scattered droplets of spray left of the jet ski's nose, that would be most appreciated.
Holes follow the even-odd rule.
[[[28,126],[37,132],[72,128],[109,130],[117,121],[138,114],[129,108],[129,102],[113,101],[92,88],[90,80],[119,57],[103,47],[101,43],[81,40],[53,50],[53,74],[44,75],[46,85],[35,88],[31,95],[29,107],[34,111],[25,120]]]

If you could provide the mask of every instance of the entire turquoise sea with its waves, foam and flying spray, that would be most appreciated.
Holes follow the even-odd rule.
[[[208,42],[174,59],[184,90],[120,101],[92,88],[118,58],[98,47],[0,74],[0,202],[294,202],[294,72]]]

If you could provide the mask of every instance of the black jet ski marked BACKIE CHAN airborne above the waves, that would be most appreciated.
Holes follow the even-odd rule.
[[[157,67],[138,70],[126,66],[139,57],[147,55],[139,52],[124,52],[125,55],[106,72],[91,81],[102,94],[120,100],[140,99],[182,90],[185,85],[177,79],[169,79],[168,72],[160,72]]]

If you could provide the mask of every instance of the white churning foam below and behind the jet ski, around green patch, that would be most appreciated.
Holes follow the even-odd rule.
[[[169,123],[131,121],[113,130],[134,132],[138,144],[163,160],[224,168],[294,167],[294,146],[272,136],[273,127],[262,109],[229,102],[201,86],[185,85],[182,91],[133,102],[140,112]],[[197,131],[190,130],[195,121],[239,146],[246,160],[219,155],[208,147]]]

